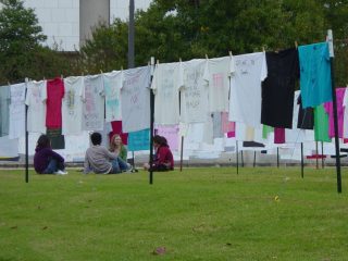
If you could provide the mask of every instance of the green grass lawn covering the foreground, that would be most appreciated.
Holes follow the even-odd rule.
[[[0,261],[348,260],[346,173],[338,195],[335,169],[2,170]]]

